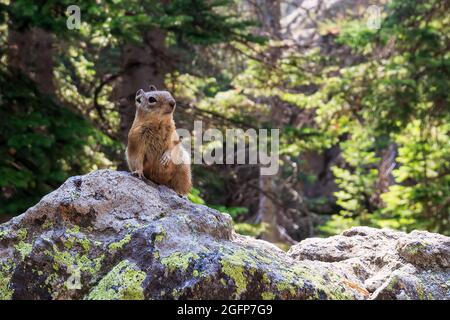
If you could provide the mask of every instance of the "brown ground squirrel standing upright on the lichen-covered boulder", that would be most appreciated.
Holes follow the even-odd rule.
[[[190,156],[175,131],[175,99],[168,91],[136,92],[136,115],[128,133],[126,158],[130,171],[166,185],[180,195],[189,193]]]

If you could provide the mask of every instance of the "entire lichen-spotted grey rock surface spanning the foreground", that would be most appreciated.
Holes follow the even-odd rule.
[[[285,253],[110,170],[0,226],[0,299],[174,298],[450,299],[450,238],[360,227]]]

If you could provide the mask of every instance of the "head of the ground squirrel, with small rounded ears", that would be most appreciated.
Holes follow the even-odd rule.
[[[136,92],[136,107],[146,114],[172,116],[175,106],[175,99],[169,91],[158,91],[155,86],[150,86],[148,92],[142,89]]]

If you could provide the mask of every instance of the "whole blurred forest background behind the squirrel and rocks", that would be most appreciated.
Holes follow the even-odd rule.
[[[73,6],[75,5],[75,7]],[[279,128],[280,171],[194,165],[189,198],[287,247],[351,226],[450,235],[450,2],[0,0],[0,221],[126,169],[134,95],[178,128]]]

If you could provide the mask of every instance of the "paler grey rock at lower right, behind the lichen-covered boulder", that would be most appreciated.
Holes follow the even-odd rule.
[[[440,234],[358,227],[306,239],[288,255],[357,277],[370,299],[450,299],[450,238]]]

